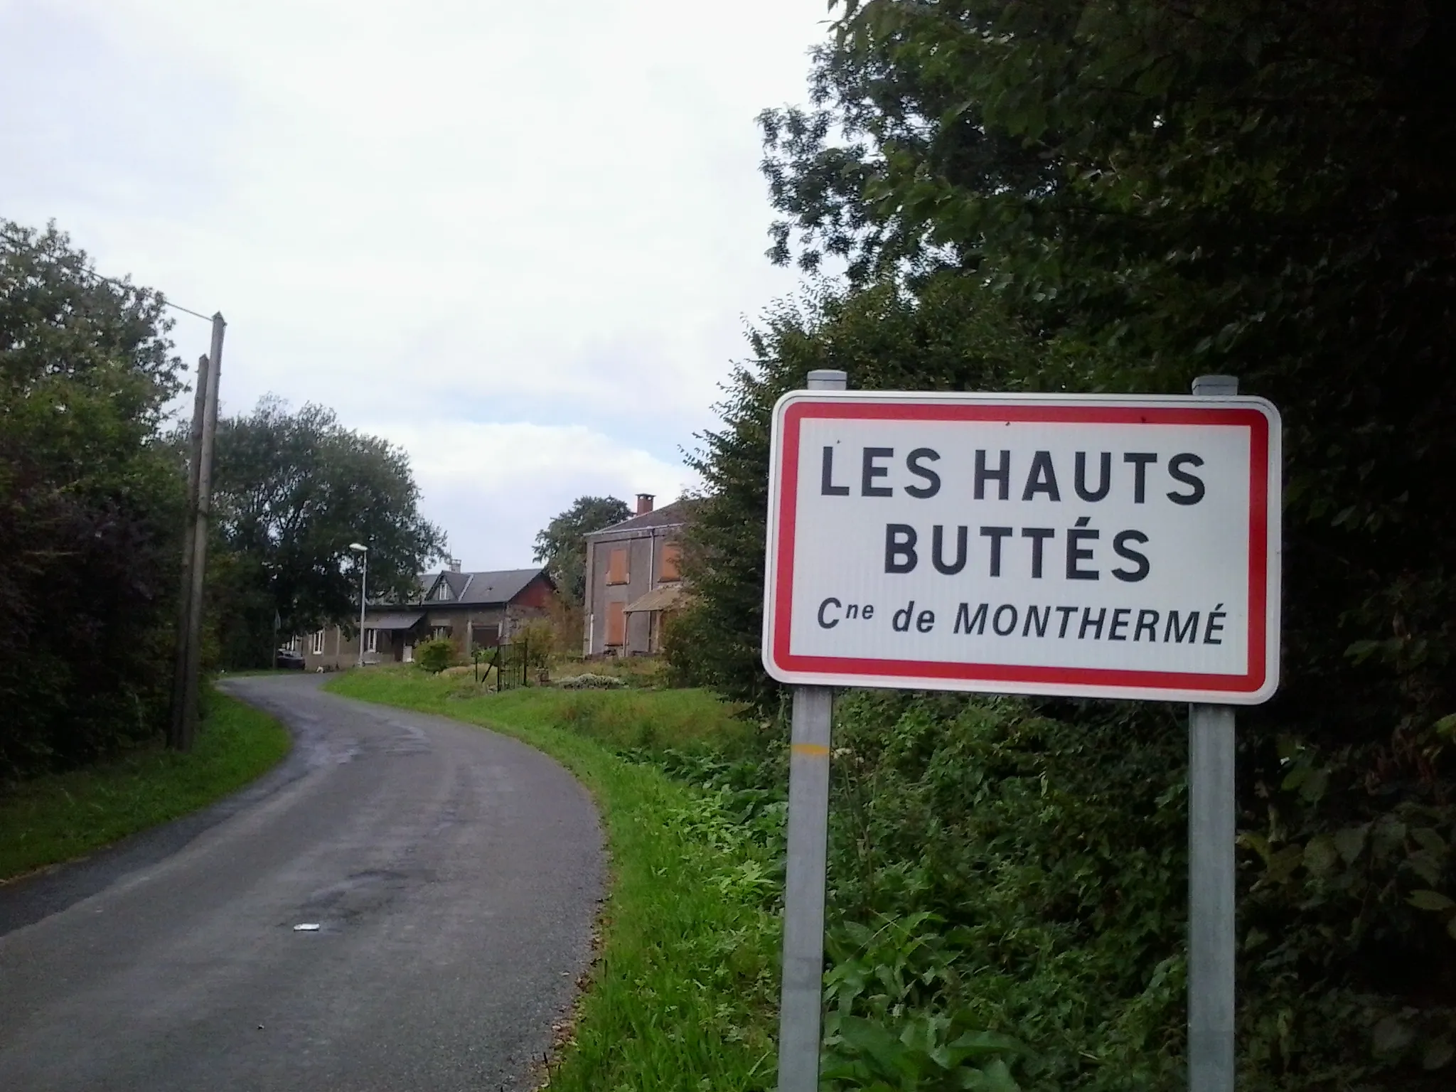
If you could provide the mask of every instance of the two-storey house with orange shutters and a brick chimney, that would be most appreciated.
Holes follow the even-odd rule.
[[[683,598],[686,524],[686,501],[654,508],[638,494],[636,514],[587,536],[585,655],[662,651],[664,619]]]

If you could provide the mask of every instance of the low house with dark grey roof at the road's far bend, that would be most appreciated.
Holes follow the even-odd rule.
[[[444,572],[419,578],[415,603],[371,603],[364,612],[364,630],[351,635],[342,626],[326,626],[301,638],[294,648],[309,671],[354,667],[364,641],[364,664],[411,662],[415,646],[435,638],[456,645],[467,658],[475,648],[507,644],[518,626],[546,617],[556,585],[546,571],[504,569],[462,572],[450,562]]]

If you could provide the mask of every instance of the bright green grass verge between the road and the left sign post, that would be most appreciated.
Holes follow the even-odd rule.
[[[729,750],[748,728],[696,690],[508,690],[370,670],[349,697],[443,713],[558,759],[593,794],[612,850],[601,958],[552,1092],[770,1088],[779,920],[772,853],[713,794],[617,750]]]

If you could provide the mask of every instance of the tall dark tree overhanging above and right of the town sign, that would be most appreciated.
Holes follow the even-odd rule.
[[[1456,9],[840,7],[815,108],[761,118],[775,258],[974,280],[1082,354],[1038,386],[1239,374],[1286,422],[1281,715],[1428,734],[1456,708]]]

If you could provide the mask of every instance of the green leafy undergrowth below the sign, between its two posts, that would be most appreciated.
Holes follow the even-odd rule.
[[[1176,1085],[1182,748],[1171,722],[1127,712],[1070,724],[1012,699],[840,700],[831,1050],[843,1019],[926,1050],[984,1031],[1028,1044],[996,1057],[1038,1092]],[[1114,741],[1118,763],[1091,761]]]

